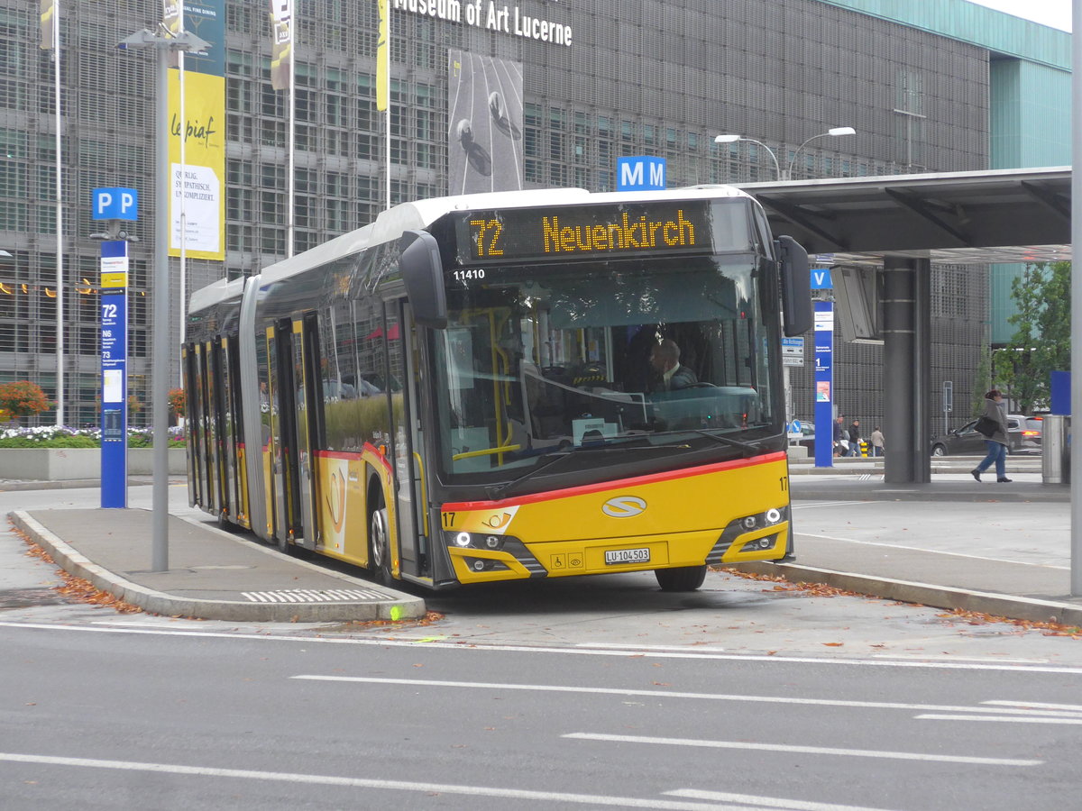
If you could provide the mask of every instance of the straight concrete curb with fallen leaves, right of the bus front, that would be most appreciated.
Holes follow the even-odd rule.
[[[835,572],[830,569],[816,569],[796,563],[749,561],[727,566],[752,574],[765,574],[771,577],[781,575],[792,583],[822,583],[834,588],[867,594],[884,600],[915,602],[933,608],[977,611],[993,616],[1005,616],[1010,620],[1082,626],[1082,606],[1072,603],[987,591],[969,591],[964,588],[911,583],[889,577],[872,577],[866,574]]]

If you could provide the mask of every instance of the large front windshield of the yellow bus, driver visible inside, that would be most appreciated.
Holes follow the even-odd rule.
[[[554,453],[617,446],[675,456],[689,438],[733,455],[776,434],[780,340],[766,323],[777,293],[757,262],[739,253],[449,271],[449,323],[433,346],[445,479],[514,480]]]

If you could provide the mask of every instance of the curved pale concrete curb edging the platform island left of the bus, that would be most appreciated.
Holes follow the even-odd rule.
[[[9,514],[12,522],[29,535],[52,556],[53,560],[64,571],[77,577],[89,581],[94,588],[106,591],[117,599],[138,606],[144,611],[166,616],[195,616],[201,620],[226,620],[229,622],[366,622],[370,620],[417,620],[423,617],[426,611],[424,600],[400,591],[391,591],[386,600],[366,602],[328,602],[328,603],[265,603],[240,602],[238,600],[200,600],[189,597],[175,597],[163,591],[156,591],[103,569],[74,549],[55,534],[23,510]],[[186,520],[186,519],[182,519]],[[222,532],[221,530],[216,530]],[[229,536],[233,541],[240,543]],[[270,555],[279,553],[262,547],[253,547]],[[291,563],[309,567],[320,574],[332,575],[339,580],[361,584],[373,588],[367,581],[357,581],[339,572],[326,571],[303,560],[290,560]],[[388,590],[388,589],[381,589]]]

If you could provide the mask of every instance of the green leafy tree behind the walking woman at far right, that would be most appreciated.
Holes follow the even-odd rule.
[[[1052,372],[1071,368],[1071,263],[1027,265],[1011,297],[1018,307],[1007,319],[1015,334],[995,354],[994,378],[1029,413],[1047,404]]]

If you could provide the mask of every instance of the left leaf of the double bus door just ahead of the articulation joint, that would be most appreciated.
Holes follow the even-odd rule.
[[[289,542],[301,536],[301,505],[298,497],[296,388],[293,383],[293,325],[289,319],[266,331],[267,368],[269,371],[270,493],[274,501],[272,535],[286,549]]]

